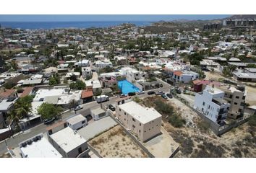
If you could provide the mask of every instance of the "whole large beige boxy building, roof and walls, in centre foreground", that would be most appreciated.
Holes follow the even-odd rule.
[[[143,142],[161,133],[162,115],[153,107],[127,102],[116,106],[116,117]]]

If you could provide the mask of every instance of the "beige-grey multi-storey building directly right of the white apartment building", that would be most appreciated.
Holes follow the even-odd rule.
[[[228,117],[233,119],[237,119],[244,115],[244,104],[245,104],[245,97],[246,92],[244,89],[239,90],[236,89],[234,86],[219,86],[223,92],[225,92],[224,99],[229,102],[229,112]]]

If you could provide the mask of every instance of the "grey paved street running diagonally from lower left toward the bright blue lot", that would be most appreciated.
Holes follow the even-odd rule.
[[[163,91],[163,92],[169,92],[170,86],[168,84],[165,84],[164,82],[162,82],[162,83],[163,83],[163,87],[161,89],[152,89],[152,90],[155,91],[155,92],[160,91],[160,90]],[[145,92],[145,94],[137,95],[137,97],[139,97],[140,99],[143,99],[145,97],[149,97],[149,95],[147,93],[148,92]],[[103,102],[102,106],[106,107],[109,104],[114,105],[115,102],[116,102],[116,98],[117,97],[111,97],[108,102]],[[100,107],[100,106],[101,106],[101,104],[98,104],[97,102],[89,102],[87,104],[82,105],[83,109],[78,110],[77,114],[88,115],[88,112],[87,112],[88,108],[96,108],[96,107]],[[74,110],[72,110],[72,111],[64,113],[61,116],[61,119],[65,120],[65,119],[67,119],[71,116],[74,116],[74,115],[75,115]],[[7,145],[11,148],[16,148],[18,146],[18,144],[21,143],[22,141],[25,141],[28,138],[32,138],[33,136],[36,136],[39,133],[45,133],[46,132],[46,126],[47,125],[40,124],[40,125],[37,125],[33,128],[30,128],[28,130],[25,130],[23,133],[16,134],[16,136],[14,138],[8,138],[6,140]],[[7,152],[7,146],[6,146],[5,142],[0,141],[0,155],[4,154],[6,152]]]

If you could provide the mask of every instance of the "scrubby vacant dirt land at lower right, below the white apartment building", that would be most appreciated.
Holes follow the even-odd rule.
[[[175,98],[168,102],[186,120],[184,127],[174,128],[163,118],[163,128],[180,145],[175,157],[256,157],[255,128],[244,123],[218,137],[184,103]]]

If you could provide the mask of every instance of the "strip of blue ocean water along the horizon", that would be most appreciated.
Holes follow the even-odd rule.
[[[136,26],[147,26],[148,21],[103,21],[103,22],[0,22],[1,27],[21,29],[56,29],[56,28],[90,28],[90,27],[113,27],[123,23],[131,23]]]

